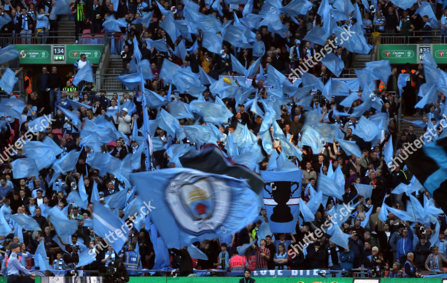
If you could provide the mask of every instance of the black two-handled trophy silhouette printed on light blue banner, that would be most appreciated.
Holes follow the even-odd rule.
[[[295,186],[293,191],[292,186]],[[267,187],[271,187],[272,191],[270,192]],[[266,190],[277,203],[270,216],[271,221],[280,223],[293,221],[293,215],[290,212],[290,207],[287,205],[287,202],[298,187],[298,182],[274,181],[271,183],[264,183],[264,190]]]

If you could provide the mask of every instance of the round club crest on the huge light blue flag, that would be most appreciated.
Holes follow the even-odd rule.
[[[215,231],[227,218],[231,199],[226,182],[200,174],[179,174],[169,181],[166,202],[179,224],[189,231]]]

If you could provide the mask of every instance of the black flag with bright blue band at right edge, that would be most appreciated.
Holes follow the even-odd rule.
[[[443,135],[441,134],[440,137]],[[405,160],[405,164],[430,192],[443,212],[447,213],[447,137],[424,146],[421,145],[422,142],[417,139],[408,147],[409,150],[406,151],[412,153],[406,153],[408,158]]]

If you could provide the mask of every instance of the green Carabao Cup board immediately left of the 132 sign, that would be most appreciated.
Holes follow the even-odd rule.
[[[381,44],[379,60],[388,60],[391,64],[416,64],[416,44]]]

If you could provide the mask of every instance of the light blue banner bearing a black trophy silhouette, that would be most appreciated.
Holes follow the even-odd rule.
[[[299,215],[302,170],[261,171],[262,196],[272,233],[295,233]]]

